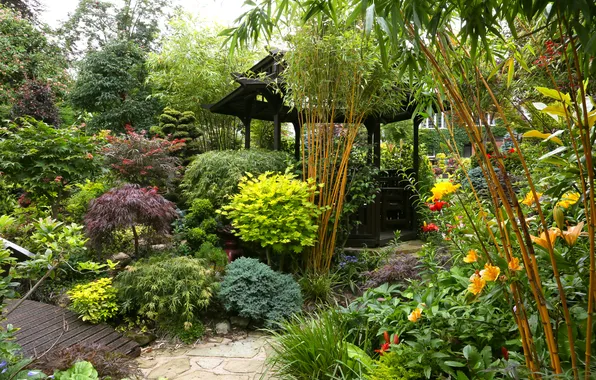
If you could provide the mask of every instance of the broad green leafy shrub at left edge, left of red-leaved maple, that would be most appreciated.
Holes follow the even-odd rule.
[[[34,200],[44,198],[54,216],[66,196],[65,186],[93,178],[99,163],[93,153],[100,137],[78,127],[53,128],[33,119],[0,128],[0,171]]]

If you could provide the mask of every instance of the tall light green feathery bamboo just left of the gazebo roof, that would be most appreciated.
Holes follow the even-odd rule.
[[[238,148],[238,119],[214,115],[201,104],[216,102],[232,91],[236,85],[230,73],[248,69],[255,53],[240,50],[228,55],[222,49],[225,38],[219,36],[222,28],[200,25],[188,15],[172,19],[170,28],[160,52],[149,54],[149,81],[156,97],[167,106],[195,113],[200,150]]]

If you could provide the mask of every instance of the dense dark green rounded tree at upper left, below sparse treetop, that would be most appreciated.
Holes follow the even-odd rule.
[[[145,55],[129,41],[115,41],[85,56],[70,101],[94,114],[90,129],[123,132],[126,125],[143,129],[153,124],[160,106],[147,99]]]

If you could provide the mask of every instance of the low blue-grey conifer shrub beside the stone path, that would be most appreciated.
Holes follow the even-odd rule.
[[[292,276],[246,257],[227,266],[219,297],[226,310],[264,322],[267,327],[302,308],[300,286]]]

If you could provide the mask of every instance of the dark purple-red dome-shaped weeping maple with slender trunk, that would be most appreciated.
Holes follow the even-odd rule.
[[[100,249],[118,229],[131,228],[135,239],[135,254],[139,253],[137,225],[167,234],[178,217],[176,206],[157,193],[155,187],[126,184],[114,188],[91,201],[85,215],[85,228],[91,244]]]

